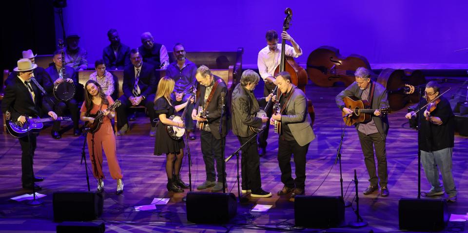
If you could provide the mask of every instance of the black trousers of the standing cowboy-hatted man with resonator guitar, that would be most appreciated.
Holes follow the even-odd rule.
[[[21,145],[21,181],[25,185],[31,184],[33,182],[32,157],[34,157],[34,151],[36,150],[36,134],[31,134],[30,138],[31,151],[29,150],[30,148],[28,137],[25,136],[18,138]]]

